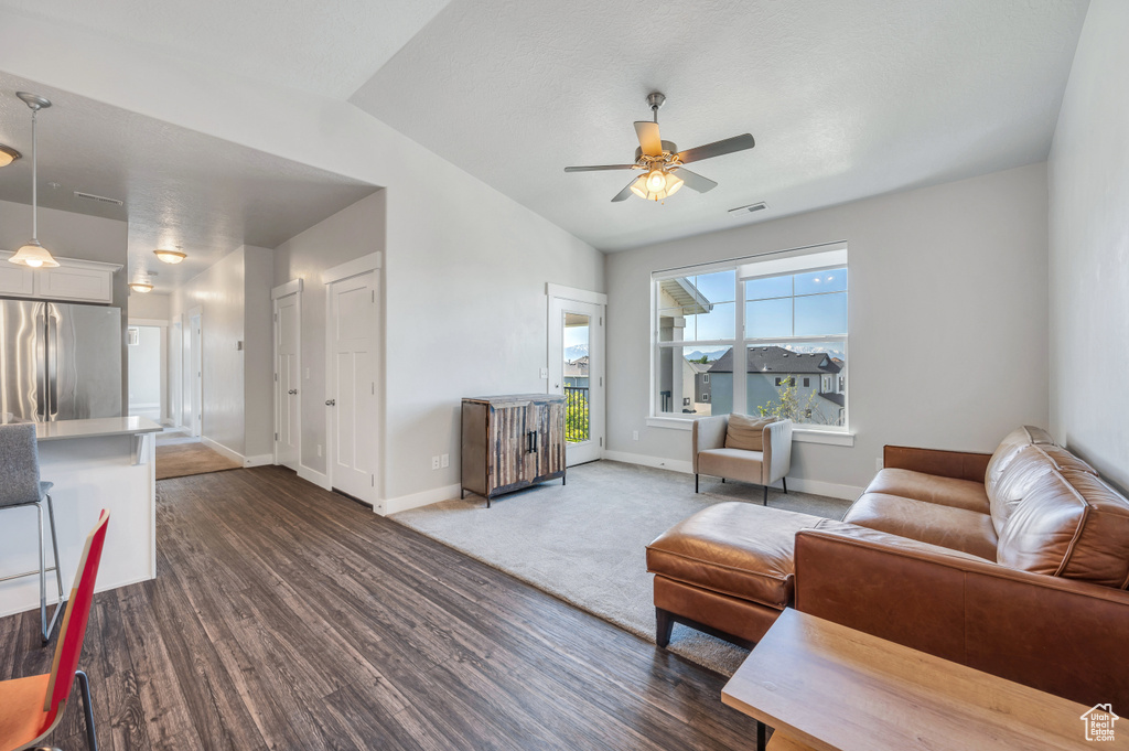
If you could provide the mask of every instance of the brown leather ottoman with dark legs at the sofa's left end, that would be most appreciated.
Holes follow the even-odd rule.
[[[826,522],[729,501],[664,532],[647,545],[658,646],[675,622],[746,647],[759,641],[793,603],[796,533]]]

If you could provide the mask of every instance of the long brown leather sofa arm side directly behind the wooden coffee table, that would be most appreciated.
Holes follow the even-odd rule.
[[[1091,706],[1129,706],[1129,593],[852,524],[796,534],[796,608]]]

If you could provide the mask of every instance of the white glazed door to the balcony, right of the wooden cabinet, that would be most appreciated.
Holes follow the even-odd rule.
[[[564,395],[569,466],[604,454],[604,306],[549,298],[549,393]]]

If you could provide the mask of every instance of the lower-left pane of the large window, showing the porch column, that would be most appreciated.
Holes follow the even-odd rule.
[[[660,347],[655,384],[656,413],[703,417],[732,412],[730,352],[730,347]],[[720,372],[715,373],[715,367]]]

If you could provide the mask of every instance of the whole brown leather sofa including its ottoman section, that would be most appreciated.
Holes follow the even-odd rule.
[[[647,549],[674,621],[749,645],[786,606],[1092,705],[1129,706],[1129,501],[1038,428],[887,446],[842,522],[726,503]]]

